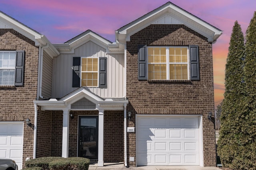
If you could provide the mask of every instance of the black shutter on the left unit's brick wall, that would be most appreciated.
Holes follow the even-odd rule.
[[[15,82],[14,86],[23,86],[25,51],[16,51]]]

